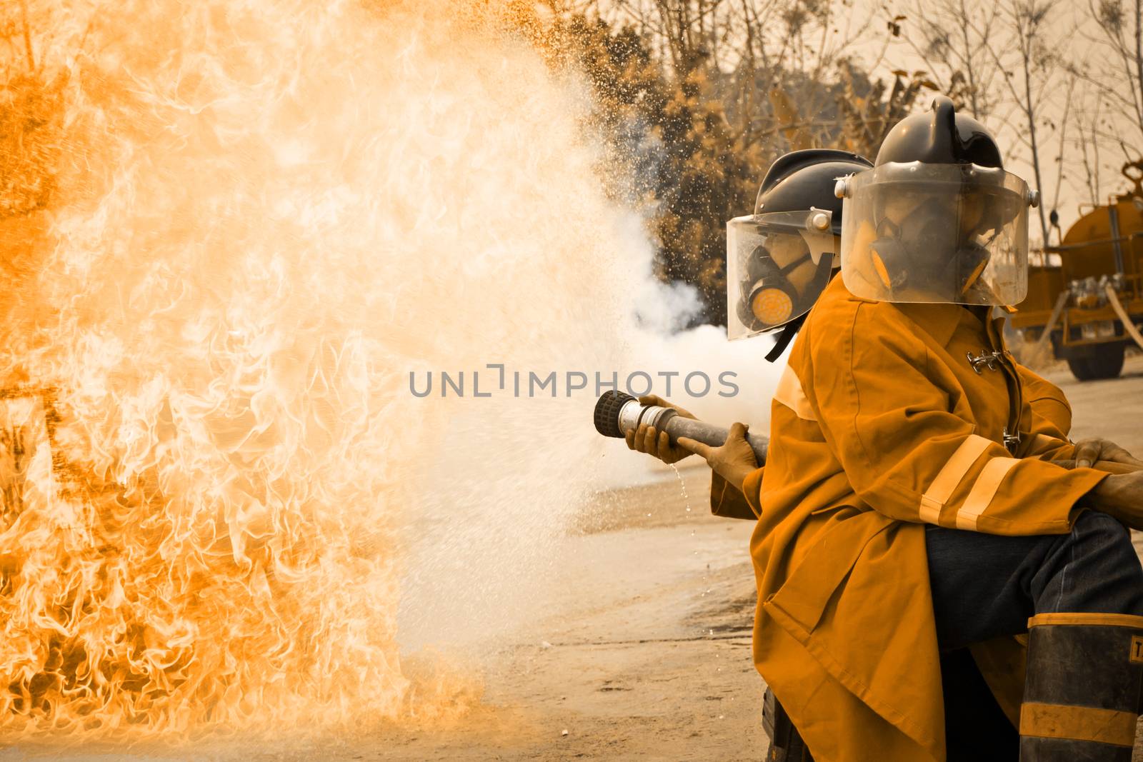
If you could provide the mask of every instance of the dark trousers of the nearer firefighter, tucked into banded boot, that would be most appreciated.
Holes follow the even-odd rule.
[[[943,651],[949,761],[1036,759],[1034,749],[1021,745],[964,647],[1026,632],[1037,613],[1143,615],[1143,567],[1129,532],[1106,514],[1085,511],[1066,535],[998,537],[929,527],[926,542]],[[1058,759],[1080,757],[1065,753]]]

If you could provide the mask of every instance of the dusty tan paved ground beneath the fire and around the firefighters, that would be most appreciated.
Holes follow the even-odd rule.
[[[1143,454],[1143,356],[1121,378],[1076,383],[1047,374],[1074,408],[1074,435],[1103,435]],[[762,682],[750,659],[751,527],[711,518],[705,467],[625,490],[585,520],[566,589],[546,618],[486,665],[481,708],[447,729],[393,729],[304,749],[263,744],[243,760],[761,760]],[[688,511],[688,508],[690,508]],[[210,749],[197,755],[215,756]],[[87,749],[79,757],[122,759]],[[1143,755],[1136,752],[1137,757]],[[185,752],[133,759],[187,759]],[[233,757],[234,746],[221,756]]]

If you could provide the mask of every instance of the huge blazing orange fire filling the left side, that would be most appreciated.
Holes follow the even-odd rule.
[[[6,739],[361,727],[448,700],[398,657],[398,514],[448,502],[414,474],[457,403],[403,393],[407,374],[506,343],[585,366],[575,326],[622,306],[600,299],[617,212],[577,99],[490,15],[3,3]],[[515,510],[558,526],[581,466],[527,432],[520,468],[551,483]],[[519,495],[489,484],[451,518]]]

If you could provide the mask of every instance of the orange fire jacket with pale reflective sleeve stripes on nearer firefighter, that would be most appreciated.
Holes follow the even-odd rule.
[[[1073,456],[1058,388],[1007,354],[969,362],[1004,350],[1000,323],[837,278],[791,351],[744,486],[753,652],[818,762],[945,759],[926,523],[1064,534],[1106,475],[1048,463]]]

